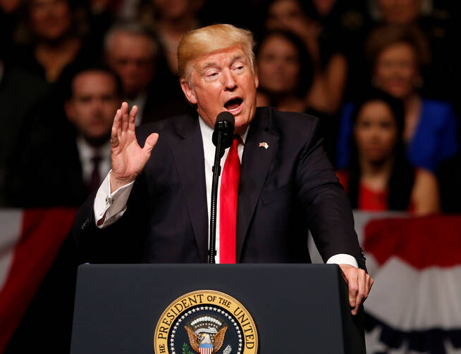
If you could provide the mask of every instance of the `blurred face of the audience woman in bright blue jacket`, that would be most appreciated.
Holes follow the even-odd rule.
[[[391,96],[405,99],[412,93],[417,77],[416,53],[410,44],[392,44],[376,58],[374,80]]]

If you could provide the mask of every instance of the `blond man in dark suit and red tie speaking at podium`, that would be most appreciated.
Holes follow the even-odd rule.
[[[128,113],[122,104],[112,127],[112,170],[80,208],[78,241],[105,262],[206,263],[212,134],[216,117],[227,111],[235,135],[221,158],[216,263],[309,263],[310,229],[324,261],[340,265],[355,314],[373,280],[319,122],[256,108],[253,46],[251,32],[232,25],[203,27],[181,39],[180,84],[195,116],[135,133],[137,108]]]

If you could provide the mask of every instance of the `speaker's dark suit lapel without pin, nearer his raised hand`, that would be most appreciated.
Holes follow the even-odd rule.
[[[184,192],[200,258],[207,260],[208,210],[204,175],[202,134],[197,118],[177,122],[178,142],[173,144],[173,157]]]

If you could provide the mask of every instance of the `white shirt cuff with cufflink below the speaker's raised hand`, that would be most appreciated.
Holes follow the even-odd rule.
[[[128,201],[131,189],[135,183],[133,181],[129,184],[125,184],[125,186],[111,193],[111,171],[109,171],[106,178],[104,178],[104,181],[97,191],[96,198],[94,198],[94,220],[99,229],[113,224],[113,222],[116,222],[123,213],[125,213],[126,202]],[[102,220],[104,215],[106,215],[104,222],[98,225],[99,220]]]

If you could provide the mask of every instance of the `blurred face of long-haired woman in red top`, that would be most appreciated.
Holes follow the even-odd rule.
[[[381,163],[391,158],[398,128],[391,108],[383,101],[369,101],[359,110],[354,127],[359,158]]]

